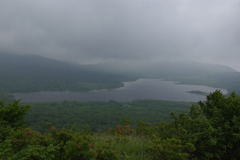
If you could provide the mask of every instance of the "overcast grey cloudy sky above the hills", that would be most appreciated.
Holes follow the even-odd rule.
[[[1,0],[0,53],[240,71],[240,0]]]

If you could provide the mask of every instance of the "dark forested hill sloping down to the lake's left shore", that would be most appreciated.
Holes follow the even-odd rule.
[[[116,88],[122,86],[123,81],[133,80],[34,55],[0,54],[0,73],[2,92],[87,91]]]

